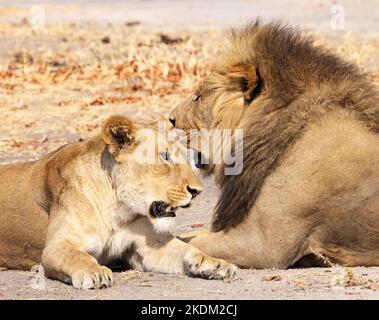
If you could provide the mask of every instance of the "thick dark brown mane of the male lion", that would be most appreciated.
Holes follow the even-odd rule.
[[[263,89],[244,113],[243,172],[217,176],[222,193],[213,231],[247,216],[288,148],[321,115],[342,108],[379,132],[378,93],[354,64],[280,23],[255,22],[233,30],[230,40],[226,56],[255,66]]]

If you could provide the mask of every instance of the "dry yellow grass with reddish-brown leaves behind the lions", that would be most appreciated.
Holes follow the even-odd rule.
[[[131,26],[130,26],[131,25]],[[165,116],[210,70],[223,34],[161,35],[138,24],[0,24],[0,163],[33,159],[95,134],[124,113]],[[379,42],[315,34],[379,82]]]

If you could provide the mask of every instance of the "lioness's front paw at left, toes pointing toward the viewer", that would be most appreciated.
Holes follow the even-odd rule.
[[[74,288],[84,290],[108,288],[113,284],[112,271],[103,266],[78,270],[71,279]]]

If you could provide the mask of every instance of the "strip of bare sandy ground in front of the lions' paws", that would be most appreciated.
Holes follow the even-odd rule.
[[[115,274],[115,285],[102,290],[75,290],[57,281],[37,282],[28,272],[0,275],[0,299],[378,299],[379,268],[354,268],[345,286],[344,268],[308,270],[240,270],[238,279],[222,281],[181,275]],[[356,281],[356,282],[354,282]],[[372,282],[371,282],[372,281]]]

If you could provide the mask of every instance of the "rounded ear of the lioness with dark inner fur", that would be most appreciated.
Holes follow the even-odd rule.
[[[102,126],[102,137],[111,153],[117,153],[133,144],[135,132],[133,122],[125,116],[111,116]]]

